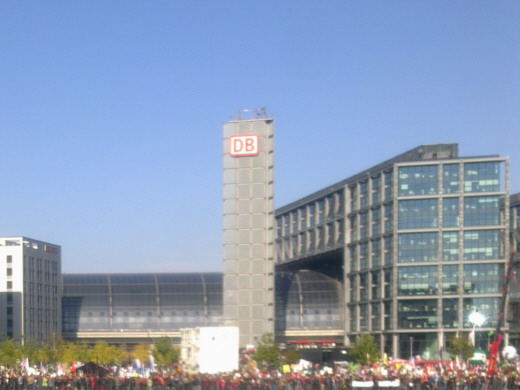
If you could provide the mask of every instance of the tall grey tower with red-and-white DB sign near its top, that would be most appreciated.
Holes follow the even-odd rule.
[[[273,197],[274,121],[239,111],[223,128],[223,303],[241,347],[274,336]]]

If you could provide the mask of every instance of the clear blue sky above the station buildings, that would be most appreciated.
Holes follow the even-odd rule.
[[[260,107],[277,207],[428,143],[520,192],[520,2],[1,1],[0,235],[221,271],[222,125]]]

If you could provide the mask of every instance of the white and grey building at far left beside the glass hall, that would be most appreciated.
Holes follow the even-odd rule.
[[[0,237],[0,340],[61,336],[61,247]]]

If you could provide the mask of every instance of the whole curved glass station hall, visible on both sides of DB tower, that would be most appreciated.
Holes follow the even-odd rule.
[[[222,273],[64,274],[63,332],[218,326]],[[276,274],[276,330],[341,328],[342,285],[319,272]]]

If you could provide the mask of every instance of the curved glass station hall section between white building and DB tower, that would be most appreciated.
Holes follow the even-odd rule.
[[[221,273],[64,274],[63,332],[222,322]]]

